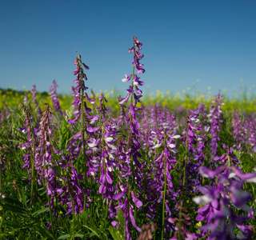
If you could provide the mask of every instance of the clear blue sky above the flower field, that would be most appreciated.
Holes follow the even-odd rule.
[[[137,36],[143,43],[142,90],[212,94],[256,84],[255,0],[0,1],[0,87],[35,84],[58,93],[74,85],[75,50],[90,66],[86,86],[126,91]],[[147,86],[150,86],[148,89]]]

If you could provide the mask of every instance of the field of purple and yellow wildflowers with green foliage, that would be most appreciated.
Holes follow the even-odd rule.
[[[1,92],[0,239],[256,239],[256,100]],[[70,85],[72,82],[70,82]]]

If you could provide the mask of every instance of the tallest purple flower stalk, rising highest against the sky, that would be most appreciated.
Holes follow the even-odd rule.
[[[114,195],[113,199],[115,201],[120,200],[128,191],[128,196],[125,198],[124,202],[122,203],[121,209],[124,212],[126,218],[126,239],[130,239],[130,226],[129,222],[134,226],[136,230],[141,232],[141,228],[136,225],[134,219],[134,206],[132,202],[134,202],[135,206],[138,208],[142,207],[142,202],[136,197],[134,189],[135,186],[138,188],[142,188],[141,184],[141,175],[139,170],[142,168],[141,162],[138,161],[138,158],[141,158],[142,155],[139,153],[138,150],[141,149],[141,145],[138,142],[138,136],[141,134],[139,127],[140,123],[138,122],[138,110],[142,110],[141,108],[137,107],[137,103],[140,102],[139,98],[142,97],[142,90],[138,88],[138,86],[142,86],[144,82],[139,80],[137,74],[143,74],[145,70],[142,68],[142,63],[139,61],[144,57],[139,51],[142,50],[142,42],[138,41],[138,38],[134,37],[134,46],[132,46],[128,52],[134,53],[134,61],[132,62],[134,65],[133,73],[129,76],[126,75],[126,78],[122,79],[122,82],[132,81],[130,87],[127,89],[126,98],[119,98],[119,104],[122,106],[130,99],[130,106],[129,106],[129,115],[126,118],[126,124],[130,126],[130,131],[128,133],[128,146],[126,150],[126,160],[128,167],[126,168],[126,176],[128,176],[129,181],[126,182],[126,186],[122,186],[122,193]],[[135,70],[137,74],[135,74]],[[132,197],[132,201],[131,198]],[[129,221],[130,219],[130,221]]]

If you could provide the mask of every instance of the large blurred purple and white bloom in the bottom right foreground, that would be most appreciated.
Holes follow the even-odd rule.
[[[250,212],[251,208],[246,205],[251,198],[249,193],[242,191],[243,181],[234,178],[235,174],[238,174],[243,179],[254,178],[252,174],[241,174],[236,168],[230,168],[226,166],[223,171],[223,166],[219,167],[217,170],[212,171],[203,167],[200,170],[204,176],[215,177],[218,179],[216,184],[214,182],[213,186],[198,187],[198,190],[203,194],[202,196],[194,198],[194,202],[198,205],[206,204],[198,209],[197,221],[205,221],[206,225],[201,226],[201,236],[205,236],[208,230],[210,230],[210,239],[235,239],[234,228],[241,228],[241,223],[245,222],[249,218],[246,216],[236,216],[235,209],[242,209],[246,212]],[[241,228],[242,229],[242,228]],[[251,236],[251,226],[245,226],[244,232],[241,236]],[[242,231],[241,230],[241,231]],[[239,237],[239,236],[238,236]]]

